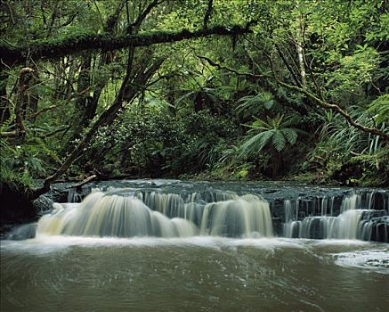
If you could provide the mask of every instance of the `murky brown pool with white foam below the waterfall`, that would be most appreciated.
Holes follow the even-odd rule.
[[[2,241],[2,311],[387,311],[389,246],[283,238]]]

